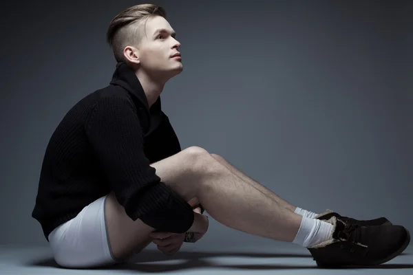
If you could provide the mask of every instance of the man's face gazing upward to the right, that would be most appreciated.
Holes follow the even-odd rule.
[[[144,23],[142,23],[144,24]],[[140,69],[153,78],[167,80],[182,72],[179,53],[180,43],[175,39],[175,32],[163,17],[151,17],[146,24],[146,35],[142,25],[142,40],[138,45]]]

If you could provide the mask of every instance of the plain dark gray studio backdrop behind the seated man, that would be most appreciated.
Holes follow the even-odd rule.
[[[47,244],[31,218],[45,147],[109,83],[107,26],[137,3],[2,4],[1,244]],[[161,96],[182,148],[222,155],[301,208],[413,230],[412,1],[153,3],[182,43],[184,72]],[[268,242],[213,219],[204,240]]]

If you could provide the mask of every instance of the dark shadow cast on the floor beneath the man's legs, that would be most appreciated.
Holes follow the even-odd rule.
[[[401,254],[409,255],[409,254]],[[211,263],[211,257],[251,257],[251,258],[311,258],[310,254],[277,254],[277,253],[247,253],[247,252],[178,252],[173,256],[165,256],[158,250],[143,250],[140,254],[132,256],[126,263],[119,263],[109,267],[95,268],[94,270],[134,270],[137,272],[173,272],[178,270],[203,269],[208,267],[238,269],[238,270],[308,270],[317,269],[317,265],[218,265]],[[153,263],[158,261],[178,260],[180,263]],[[152,262],[152,263],[151,263]],[[59,267],[54,259],[45,259],[29,264],[32,267]],[[351,267],[351,269],[410,269],[409,264],[383,264],[372,267]],[[348,269],[348,268],[341,268]]]

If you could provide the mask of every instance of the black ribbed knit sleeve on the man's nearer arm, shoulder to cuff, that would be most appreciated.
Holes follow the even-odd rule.
[[[149,165],[140,121],[127,98],[100,98],[86,133],[116,199],[132,220],[140,219],[162,232],[189,230],[193,210]]]

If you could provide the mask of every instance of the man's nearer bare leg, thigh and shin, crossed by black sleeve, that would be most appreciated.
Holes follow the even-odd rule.
[[[249,234],[291,242],[302,217],[287,210],[260,190],[234,176],[225,166],[199,147],[151,164],[165,184],[186,201],[198,197],[213,219]],[[155,229],[131,221],[114,197],[107,199],[109,243],[116,259],[123,259],[149,243]]]

